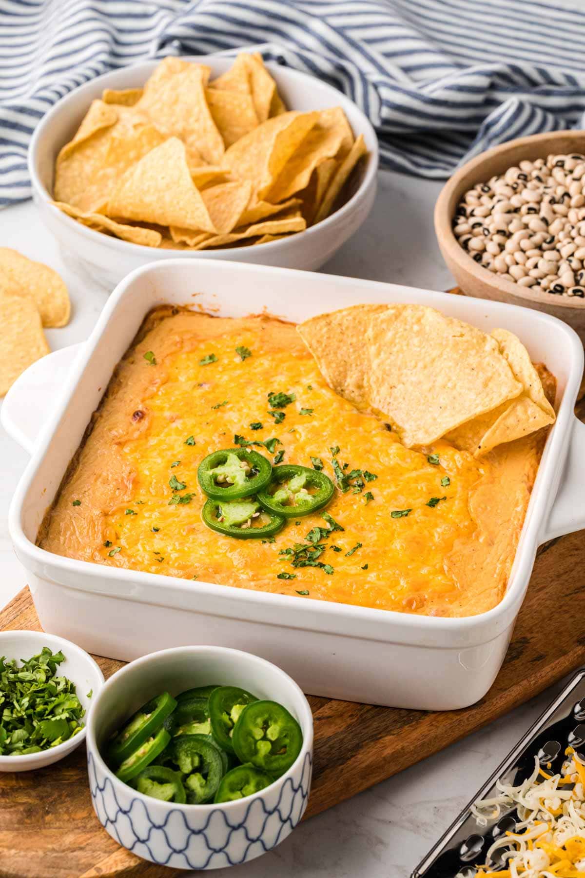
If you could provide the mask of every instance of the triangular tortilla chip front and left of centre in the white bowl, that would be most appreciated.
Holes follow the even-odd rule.
[[[216,232],[200,192],[193,184],[185,145],[176,137],[152,149],[112,192],[108,216]]]

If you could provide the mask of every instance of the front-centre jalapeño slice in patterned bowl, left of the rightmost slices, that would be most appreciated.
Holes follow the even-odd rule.
[[[184,735],[173,743],[173,759],[182,774],[187,775],[182,781],[187,802],[198,805],[212,799],[225,774],[225,761],[218,745],[203,735]]]

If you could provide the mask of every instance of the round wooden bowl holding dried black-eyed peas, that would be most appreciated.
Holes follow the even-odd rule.
[[[445,262],[461,290],[479,299],[496,299],[511,305],[524,305],[559,317],[573,327],[585,342],[585,299],[553,296],[547,292],[533,292],[530,287],[518,286],[492,274],[460,246],[453,234],[452,220],[455,209],[467,190],[484,183],[491,176],[503,174],[523,159],[534,161],[551,153],[564,155],[585,154],[585,131],[556,131],[519,137],[486,152],[463,165],[443,187],[435,205],[435,234]]]

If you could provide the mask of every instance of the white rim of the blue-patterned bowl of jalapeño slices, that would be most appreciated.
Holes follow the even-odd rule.
[[[120,668],[119,671],[117,671],[116,673],[113,673],[111,675],[110,679],[106,680],[104,686],[100,690],[100,694],[107,692],[108,689],[111,689],[115,685],[115,683],[120,679],[120,677],[122,675],[124,675],[125,673],[133,673],[134,668],[142,666],[142,665],[147,665],[153,659],[157,659],[158,657],[160,657],[162,655],[169,655],[171,653],[176,653],[178,655],[178,654],[184,653],[184,652],[192,652],[194,655],[196,655],[196,653],[198,653],[198,652],[205,652],[205,653],[215,652],[215,653],[224,654],[224,655],[226,653],[228,653],[228,654],[232,655],[234,662],[237,661],[239,659],[239,657],[241,657],[241,656],[246,656],[246,660],[249,660],[252,658],[256,662],[258,662],[260,665],[268,666],[273,671],[277,671],[278,674],[282,677],[282,680],[285,683],[285,685],[294,689],[297,694],[301,695],[301,703],[303,704],[303,711],[305,712],[305,716],[303,718],[304,718],[305,722],[309,723],[309,727],[310,727],[309,734],[305,733],[303,730],[303,746],[301,747],[301,752],[299,752],[298,756],[296,757],[293,764],[289,767],[289,769],[287,769],[287,771],[284,774],[281,774],[280,777],[277,777],[275,781],[273,781],[271,784],[268,785],[268,787],[260,789],[257,793],[253,793],[252,795],[246,795],[246,797],[245,797],[246,802],[248,802],[248,801],[253,802],[254,799],[262,798],[262,795],[268,789],[273,789],[275,784],[284,783],[285,781],[287,781],[288,778],[291,778],[291,780],[292,780],[292,775],[294,774],[294,770],[295,770],[296,766],[298,766],[299,763],[302,762],[303,759],[305,759],[307,753],[310,752],[310,748],[312,745],[312,738],[313,738],[313,733],[312,733],[313,716],[310,712],[310,708],[309,708],[308,702],[306,700],[306,696],[303,693],[303,690],[301,689],[301,687],[299,687],[298,684],[295,682],[295,680],[293,680],[292,677],[289,677],[288,673],[285,673],[284,671],[282,671],[282,668],[278,667],[277,665],[273,665],[273,663],[267,661],[267,659],[260,659],[260,656],[255,656],[255,655],[253,655],[252,652],[245,652],[243,650],[233,650],[231,647],[228,647],[228,646],[175,646],[169,650],[158,650],[156,652],[149,652],[146,656],[141,656],[139,659],[135,659],[134,661],[129,662],[127,665]],[[216,802],[204,802],[203,804],[200,804],[200,805],[189,805],[189,804],[182,804],[181,802],[163,802],[161,799],[156,799],[151,795],[145,795],[144,793],[139,793],[138,789],[134,789],[133,787],[130,787],[124,781],[120,781],[120,779],[118,777],[116,777],[116,775],[111,771],[111,768],[104,761],[102,754],[99,751],[99,747],[97,746],[96,737],[95,737],[94,729],[93,729],[94,717],[95,717],[98,709],[99,709],[99,698],[97,698],[96,701],[93,702],[93,704],[91,705],[91,708],[89,709],[89,715],[87,717],[86,727],[88,730],[88,755],[89,755],[89,751],[90,751],[92,758],[96,759],[97,764],[100,766],[103,773],[106,775],[106,777],[111,781],[111,783],[114,786],[116,784],[119,784],[122,787],[132,789],[132,794],[139,796],[139,799],[141,799],[143,802],[153,802],[153,801],[157,802],[157,804],[166,807],[169,811],[176,810],[176,809],[182,810],[184,808],[184,809],[186,809],[187,813],[193,813],[193,811],[191,809],[195,808],[198,813],[203,814],[203,813],[210,813],[213,810],[218,810],[218,809],[221,809],[221,810],[228,809],[229,810],[232,808],[236,808],[237,806],[239,806],[241,804],[241,802],[244,801],[244,799],[236,799],[233,802],[217,802],[217,803]],[[300,716],[298,717],[298,722],[299,722],[299,725],[301,725],[301,728],[303,728],[303,723],[301,722]],[[80,734],[81,734],[81,732],[80,732]]]

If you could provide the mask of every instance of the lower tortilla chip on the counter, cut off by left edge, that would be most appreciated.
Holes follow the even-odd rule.
[[[40,314],[32,297],[0,290],[0,396],[19,375],[49,353]]]

